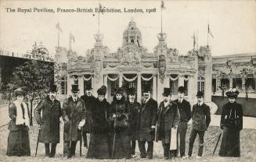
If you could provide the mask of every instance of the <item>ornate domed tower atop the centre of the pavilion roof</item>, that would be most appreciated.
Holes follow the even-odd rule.
[[[134,44],[139,48],[142,47],[142,34],[133,19],[130,21],[123,34],[123,47],[130,44]]]

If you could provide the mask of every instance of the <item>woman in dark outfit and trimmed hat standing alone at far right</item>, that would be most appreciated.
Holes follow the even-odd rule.
[[[240,157],[240,131],[243,129],[243,107],[236,103],[238,90],[230,89],[226,95],[229,103],[222,107],[222,144],[218,155],[221,157]]]

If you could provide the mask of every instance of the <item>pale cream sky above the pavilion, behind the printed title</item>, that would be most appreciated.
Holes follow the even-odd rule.
[[[160,1],[5,1],[0,0],[0,49],[26,53],[34,42],[40,43],[54,55],[59,44],[68,48],[69,34],[75,41],[72,50],[78,55],[92,49],[94,34],[98,30],[98,15],[95,12],[17,12],[17,9],[75,9],[99,6],[121,9],[122,13],[100,14],[100,33],[103,45],[110,52],[122,45],[124,30],[134,19],[142,33],[142,46],[150,53],[157,45],[160,33]],[[186,55],[193,48],[193,33],[197,33],[198,45],[207,44],[207,23],[214,38],[209,37],[211,54],[233,55],[256,52],[256,1],[164,1],[163,32],[167,33],[168,48],[177,48],[180,55]],[[6,8],[16,9],[7,12]],[[124,12],[126,9],[143,9],[144,13]],[[156,12],[146,13],[146,9]],[[93,16],[93,14],[96,14]]]

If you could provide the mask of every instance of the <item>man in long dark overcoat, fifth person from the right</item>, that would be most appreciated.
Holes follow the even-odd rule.
[[[142,158],[153,158],[153,140],[155,139],[155,128],[157,122],[157,101],[151,98],[150,87],[145,87],[142,91],[142,105],[139,108],[139,129],[138,143]],[[148,148],[146,151],[145,143]]]

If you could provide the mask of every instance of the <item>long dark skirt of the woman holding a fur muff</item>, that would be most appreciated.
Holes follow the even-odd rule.
[[[131,139],[127,129],[115,132],[110,146],[114,159],[131,158]]]

